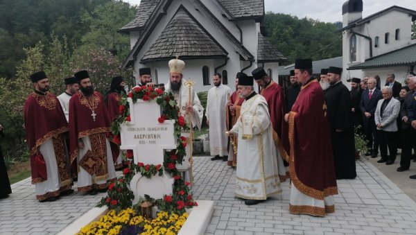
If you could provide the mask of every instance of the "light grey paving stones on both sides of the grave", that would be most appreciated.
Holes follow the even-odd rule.
[[[416,203],[370,162],[357,162],[356,180],[338,180],[336,212],[324,218],[288,213],[288,182],[283,193],[246,206],[234,197],[235,170],[222,161],[195,157],[195,186],[200,200],[214,200],[206,234],[416,234]],[[12,185],[0,200],[0,234],[56,234],[103,197],[73,193],[56,202],[35,200],[30,179]]]

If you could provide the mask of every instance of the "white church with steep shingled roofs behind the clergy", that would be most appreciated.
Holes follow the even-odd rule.
[[[132,65],[136,78],[149,67],[153,82],[167,83],[168,61],[179,57],[197,92],[213,86],[215,72],[232,89],[237,72],[251,75],[257,67],[277,80],[287,59],[263,36],[264,15],[263,0],[141,0],[135,19],[119,30],[130,35],[123,67]]]

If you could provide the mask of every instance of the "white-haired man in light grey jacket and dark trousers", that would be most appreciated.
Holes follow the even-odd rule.
[[[385,162],[391,165],[395,162],[397,154],[397,116],[400,112],[400,101],[393,97],[391,87],[385,86],[381,89],[383,99],[377,103],[376,112],[374,112],[374,121],[377,127],[377,139],[380,144],[379,163]],[[387,147],[390,155],[387,155]]]

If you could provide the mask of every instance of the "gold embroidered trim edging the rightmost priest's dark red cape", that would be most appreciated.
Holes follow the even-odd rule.
[[[297,177],[296,170],[295,170],[295,116],[297,112],[289,112],[289,142],[291,143],[291,158],[289,162],[289,172],[291,174],[291,180],[295,185],[296,189],[299,190],[301,193],[305,195],[309,195],[312,198],[316,198],[319,200],[324,200],[325,197],[328,195],[335,195],[338,194],[338,188],[336,186],[332,186],[329,188],[324,189],[324,191],[319,191],[317,189],[313,189],[310,186],[306,186],[304,183],[300,181]]]

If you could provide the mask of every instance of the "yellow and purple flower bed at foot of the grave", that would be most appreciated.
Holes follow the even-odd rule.
[[[159,212],[153,220],[137,216],[134,209],[128,208],[118,214],[111,210],[105,216],[83,227],[77,235],[88,234],[177,234],[187,220],[188,214],[181,216]]]

